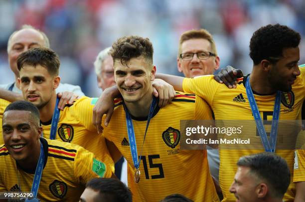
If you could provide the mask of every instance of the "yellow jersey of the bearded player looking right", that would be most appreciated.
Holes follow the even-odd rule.
[[[302,103],[305,97],[305,67],[300,67],[301,75],[297,77],[292,88],[292,92],[282,93],[280,120],[296,120],[301,112]],[[211,106],[215,120],[254,120],[251,107],[247,98],[245,82],[247,76],[243,78],[235,89],[229,89],[224,84],[220,84],[213,79],[213,75],[201,76],[195,79],[185,78],[183,80],[183,90],[195,93]],[[261,117],[264,120],[272,120],[275,95],[261,96],[254,94]],[[256,127],[244,128],[247,134],[260,141],[260,136],[256,134]],[[267,131],[268,132],[268,131]],[[250,154],[264,152],[262,150],[219,150],[219,184],[224,195],[224,202],[235,202],[233,194],[229,188],[234,180],[237,170],[236,163],[240,157]],[[293,173],[294,150],[276,150],[276,153],[286,159]],[[293,182],[293,179],[291,179]],[[285,194],[284,200],[293,201],[294,185],[291,183]]]

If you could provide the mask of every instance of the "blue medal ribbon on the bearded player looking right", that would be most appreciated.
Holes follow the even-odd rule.
[[[268,141],[267,133],[264,128],[262,117],[258,110],[251,86],[250,86],[250,76],[247,78],[246,82],[246,92],[249,100],[249,104],[256,122],[257,130],[260,134],[262,144],[266,152],[275,152],[277,136],[278,136],[278,128],[279,128],[279,116],[281,109],[281,91],[277,91],[276,100],[273,109],[273,117],[271,124],[271,133],[270,133],[270,142]]]

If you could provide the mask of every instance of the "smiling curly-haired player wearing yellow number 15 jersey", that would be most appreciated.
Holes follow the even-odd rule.
[[[175,193],[195,202],[219,201],[206,150],[180,150],[180,120],[211,119],[211,111],[201,98],[182,92],[177,92],[164,108],[154,105],[152,54],[150,40],[139,36],[119,38],[111,50],[116,88],[123,100],[116,100],[112,120],[103,134],[119,150],[112,154],[122,154],[128,162],[128,186],[133,201],[157,202]],[[103,94],[109,92],[106,89]],[[129,126],[133,125],[134,137],[128,134],[127,121]],[[141,156],[140,174],[138,156]]]

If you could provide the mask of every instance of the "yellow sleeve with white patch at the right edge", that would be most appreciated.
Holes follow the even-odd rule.
[[[294,183],[305,181],[305,150],[296,150],[294,166]]]

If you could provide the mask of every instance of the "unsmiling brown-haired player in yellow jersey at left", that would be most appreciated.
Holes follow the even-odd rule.
[[[59,64],[58,55],[43,47],[31,48],[20,54],[17,59],[20,75],[18,82],[22,95],[25,100],[39,109],[43,137],[50,139],[53,125],[56,140],[80,145],[94,153],[98,159],[113,164],[105,138],[98,135],[92,124],[95,99],[82,97],[72,105],[66,105],[63,111],[58,111],[57,127],[56,123],[52,123],[52,117],[56,117],[53,114],[56,112],[54,112],[57,99],[55,90],[60,82]]]

